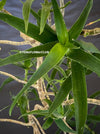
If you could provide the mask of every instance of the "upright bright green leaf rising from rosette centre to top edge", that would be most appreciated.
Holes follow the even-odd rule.
[[[58,37],[59,42],[65,45],[66,42],[69,40],[66,25],[65,25],[63,16],[60,12],[57,1],[52,0],[52,5],[53,5],[53,10],[54,10],[54,19],[55,19],[57,37]]]

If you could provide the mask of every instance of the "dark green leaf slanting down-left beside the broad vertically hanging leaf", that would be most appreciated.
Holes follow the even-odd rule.
[[[57,107],[61,105],[61,103],[66,99],[71,88],[72,88],[72,83],[71,83],[71,77],[69,76],[61,85],[58,94],[56,95],[53,103],[49,108],[49,114],[52,114],[57,109]]]

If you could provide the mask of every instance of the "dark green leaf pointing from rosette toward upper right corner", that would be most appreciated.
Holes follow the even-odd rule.
[[[80,33],[81,33],[85,23],[86,23],[88,15],[90,13],[92,5],[93,5],[93,0],[88,0],[87,5],[85,6],[85,8],[84,8],[83,12],[81,13],[80,17],[77,19],[75,24],[69,30],[70,41],[72,39],[77,39],[77,37],[80,35]]]

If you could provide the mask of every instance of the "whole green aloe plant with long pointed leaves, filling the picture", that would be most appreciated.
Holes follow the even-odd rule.
[[[48,129],[52,123],[55,122],[58,128],[63,132],[83,134],[87,119],[97,119],[97,117],[93,117],[92,115],[88,116],[87,113],[88,102],[85,77],[87,70],[90,70],[91,73],[95,72],[100,76],[100,56],[97,56],[100,54],[100,51],[92,43],[78,40],[92,8],[93,0],[88,0],[81,15],[70,30],[67,30],[56,0],[51,0],[51,2],[44,0],[42,9],[40,9],[38,13],[31,9],[32,3],[33,0],[26,0],[23,3],[24,20],[0,12],[0,20],[16,28],[19,32],[26,34],[34,41],[42,43],[24,52],[18,51],[16,54],[0,59],[0,66],[14,64],[22,67],[25,70],[24,80],[27,81],[20,92],[14,97],[9,109],[9,115],[11,116],[15,105],[17,105],[20,108],[21,117],[24,117],[26,122],[28,121],[27,117],[30,115],[32,118],[32,115],[41,115],[46,119],[43,124],[43,129]],[[3,4],[2,6],[4,6]],[[56,31],[51,29],[47,24],[47,18],[52,11]],[[37,25],[29,23],[30,13],[36,18]],[[36,66],[34,59],[41,56],[45,57],[44,61],[34,72],[31,68],[33,65]],[[67,59],[67,64],[65,63],[65,59]],[[66,66],[66,70],[60,67],[62,64]],[[29,71],[32,73],[29,74]],[[50,73],[51,75],[49,76]],[[58,78],[55,77],[57,73]],[[31,75],[29,79],[28,75]],[[0,89],[14,78],[15,77],[8,78]],[[46,91],[41,93],[45,98],[43,100],[41,100],[40,91],[38,89],[40,85],[38,85],[37,82],[39,80],[41,81],[40,78],[42,78],[42,82],[44,80],[47,81]],[[38,95],[40,96],[37,95],[36,87],[32,89],[36,83]],[[42,85],[43,84],[45,83],[42,83]],[[59,84],[59,90],[57,84]],[[53,92],[53,101],[49,97],[48,88]],[[41,100],[43,108],[40,107],[39,110],[30,111],[30,99],[28,97],[30,92],[34,93],[37,98]],[[69,102],[74,99],[74,105],[69,103],[69,106],[66,106],[66,98]],[[69,120],[67,120],[67,117]],[[72,117],[75,117],[75,130],[73,127],[71,128],[70,122],[72,121]],[[31,124],[32,122],[29,120],[29,123]],[[42,128],[40,129],[41,132],[44,133]]]

